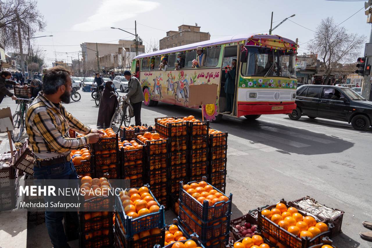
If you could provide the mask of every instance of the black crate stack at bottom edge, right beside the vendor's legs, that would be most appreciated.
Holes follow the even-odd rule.
[[[78,199],[79,247],[113,247],[113,197],[79,195]]]

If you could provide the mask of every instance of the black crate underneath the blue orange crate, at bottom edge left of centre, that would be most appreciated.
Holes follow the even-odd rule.
[[[118,222],[119,219],[115,217],[115,241],[118,248],[154,248],[156,244],[164,245],[164,229],[160,234],[149,235],[135,241],[133,238],[126,237]]]

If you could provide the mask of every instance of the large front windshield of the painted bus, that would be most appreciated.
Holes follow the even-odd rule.
[[[296,78],[296,57],[293,52],[247,48],[248,61],[243,63],[244,76],[280,76]]]

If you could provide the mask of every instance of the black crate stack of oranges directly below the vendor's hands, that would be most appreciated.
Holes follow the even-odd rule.
[[[119,179],[119,144],[118,137],[100,138],[91,144],[93,152],[94,177]]]

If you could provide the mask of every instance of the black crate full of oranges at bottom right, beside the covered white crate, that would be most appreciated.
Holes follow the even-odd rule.
[[[290,207],[282,199],[278,204],[258,208],[258,227],[281,244],[290,248],[319,244],[331,237],[333,224],[315,219],[310,213]]]

